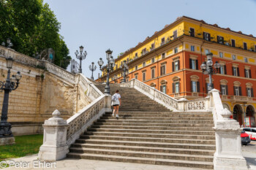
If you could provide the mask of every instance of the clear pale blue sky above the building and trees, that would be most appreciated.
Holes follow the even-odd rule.
[[[217,23],[233,31],[256,36],[256,0],[45,0],[59,22],[70,55],[80,45],[88,55],[83,74],[91,77],[89,65],[103,58],[105,50],[113,57],[135,47],[147,36],[185,15],[206,23]],[[94,72],[98,77],[99,66]],[[68,68],[69,69],[69,68]]]

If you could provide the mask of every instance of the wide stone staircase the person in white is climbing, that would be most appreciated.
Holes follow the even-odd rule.
[[[104,85],[96,85],[104,91]],[[170,112],[133,88],[121,94],[119,117],[103,115],[69,148],[67,157],[213,169],[211,112]]]

